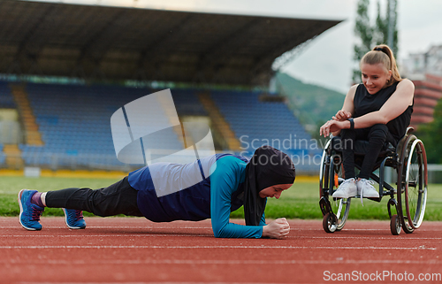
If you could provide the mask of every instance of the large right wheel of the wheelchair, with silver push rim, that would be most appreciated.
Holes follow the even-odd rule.
[[[423,142],[415,135],[408,136],[405,145],[400,158],[398,204],[403,216],[404,232],[413,233],[421,226],[425,213],[428,183],[427,157]]]

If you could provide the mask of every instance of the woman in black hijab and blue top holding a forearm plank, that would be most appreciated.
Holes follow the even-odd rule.
[[[201,181],[194,183],[199,175]],[[289,233],[286,219],[265,224],[267,197],[276,197],[294,182],[290,157],[271,146],[245,157],[217,154],[194,163],[156,163],[129,173],[107,188],[65,188],[19,192],[20,224],[41,230],[44,207],[63,208],[66,225],[85,228],[82,211],[97,216],[144,216],[154,222],[211,219],[213,233],[224,238],[283,238]],[[179,188],[179,190],[177,190]],[[229,222],[230,212],[244,205],[246,226]]]

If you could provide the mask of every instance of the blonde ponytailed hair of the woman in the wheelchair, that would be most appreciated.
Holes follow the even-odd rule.
[[[396,65],[396,59],[392,54],[392,50],[386,44],[379,44],[375,46],[373,50],[365,53],[365,55],[361,59],[360,65],[373,65],[378,63],[382,63],[385,66],[386,70],[392,71],[392,78],[390,78],[390,80],[386,82],[385,87],[392,86],[392,84],[394,84],[395,82],[402,81],[402,78],[400,78],[398,66]]]

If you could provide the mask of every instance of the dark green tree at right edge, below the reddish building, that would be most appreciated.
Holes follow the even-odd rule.
[[[434,120],[421,125],[416,135],[423,141],[429,164],[442,164],[442,100],[434,108]]]

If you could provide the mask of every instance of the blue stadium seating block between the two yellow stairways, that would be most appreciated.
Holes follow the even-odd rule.
[[[54,163],[50,153],[57,153],[65,157],[57,161],[58,165],[68,165],[72,157],[83,160],[84,166],[90,163],[90,158],[96,164],[105,161],[122,165],[115,157],[110,117],[121,106],[154,92],[149,88],[29,83],[27,93],[44,146],[38,147],[42,155],[35,160],[32,156],[36,148],[21,145],[25,162],[50,166]],[[179,116],[207,116],[194,91],[177,89],[171,94]],[[166,148],[182,147],[176,134],[169,134],[165,140]]]

